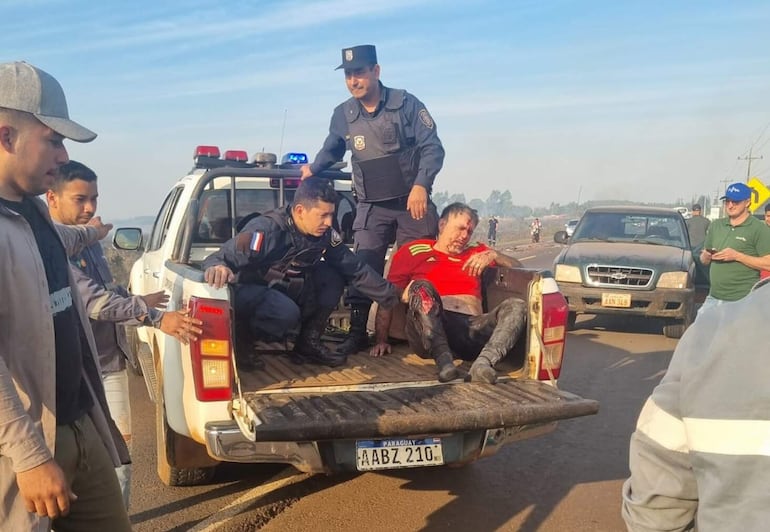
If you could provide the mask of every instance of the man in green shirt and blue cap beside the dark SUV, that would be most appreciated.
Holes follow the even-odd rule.
[[[700,260],[709,266],[711,289],[699,312],[746,296],[770,269],[770,228],[751,216],[751,188],[733,183],[720,198],[727,217],[709,225]]]

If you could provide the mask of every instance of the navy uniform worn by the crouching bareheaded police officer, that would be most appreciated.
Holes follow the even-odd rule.
[[[395,288],[361,262],[337,231],[303,234],[290,209],[254,218],[204,261],[204,269],[224,264],[235,273],[238,326],[254,338],[273,340],[301,325],[300,339],[309,333],[317,341],[345,282],[386,308],[397,303]]]

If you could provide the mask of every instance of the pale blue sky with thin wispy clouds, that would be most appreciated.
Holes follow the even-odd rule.
[[[349,95],[340,49],[377,46],[447,156],[434,190],[519,205],[689,202],[770,183],[766,1],[2,0],[0,61],[53,74],[105,218],[155,214],[193,148],[311,158]],[[721,191],[720,191],[721,192]]]

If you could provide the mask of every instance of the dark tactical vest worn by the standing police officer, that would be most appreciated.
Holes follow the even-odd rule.
[[[383,90],[387,91],[384,108],[375,117],[361,112],[355,98],[344,103],[347,148],[352,154],[353,187],[359,201],[407,196],[420,166],[414,128],[404,114],[405,91]]]

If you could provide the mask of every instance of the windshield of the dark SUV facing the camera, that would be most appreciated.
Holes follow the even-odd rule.
[[[687,249],[685,230],[679,213],[586,212],[575,229],[572,242],[639,242]]]

